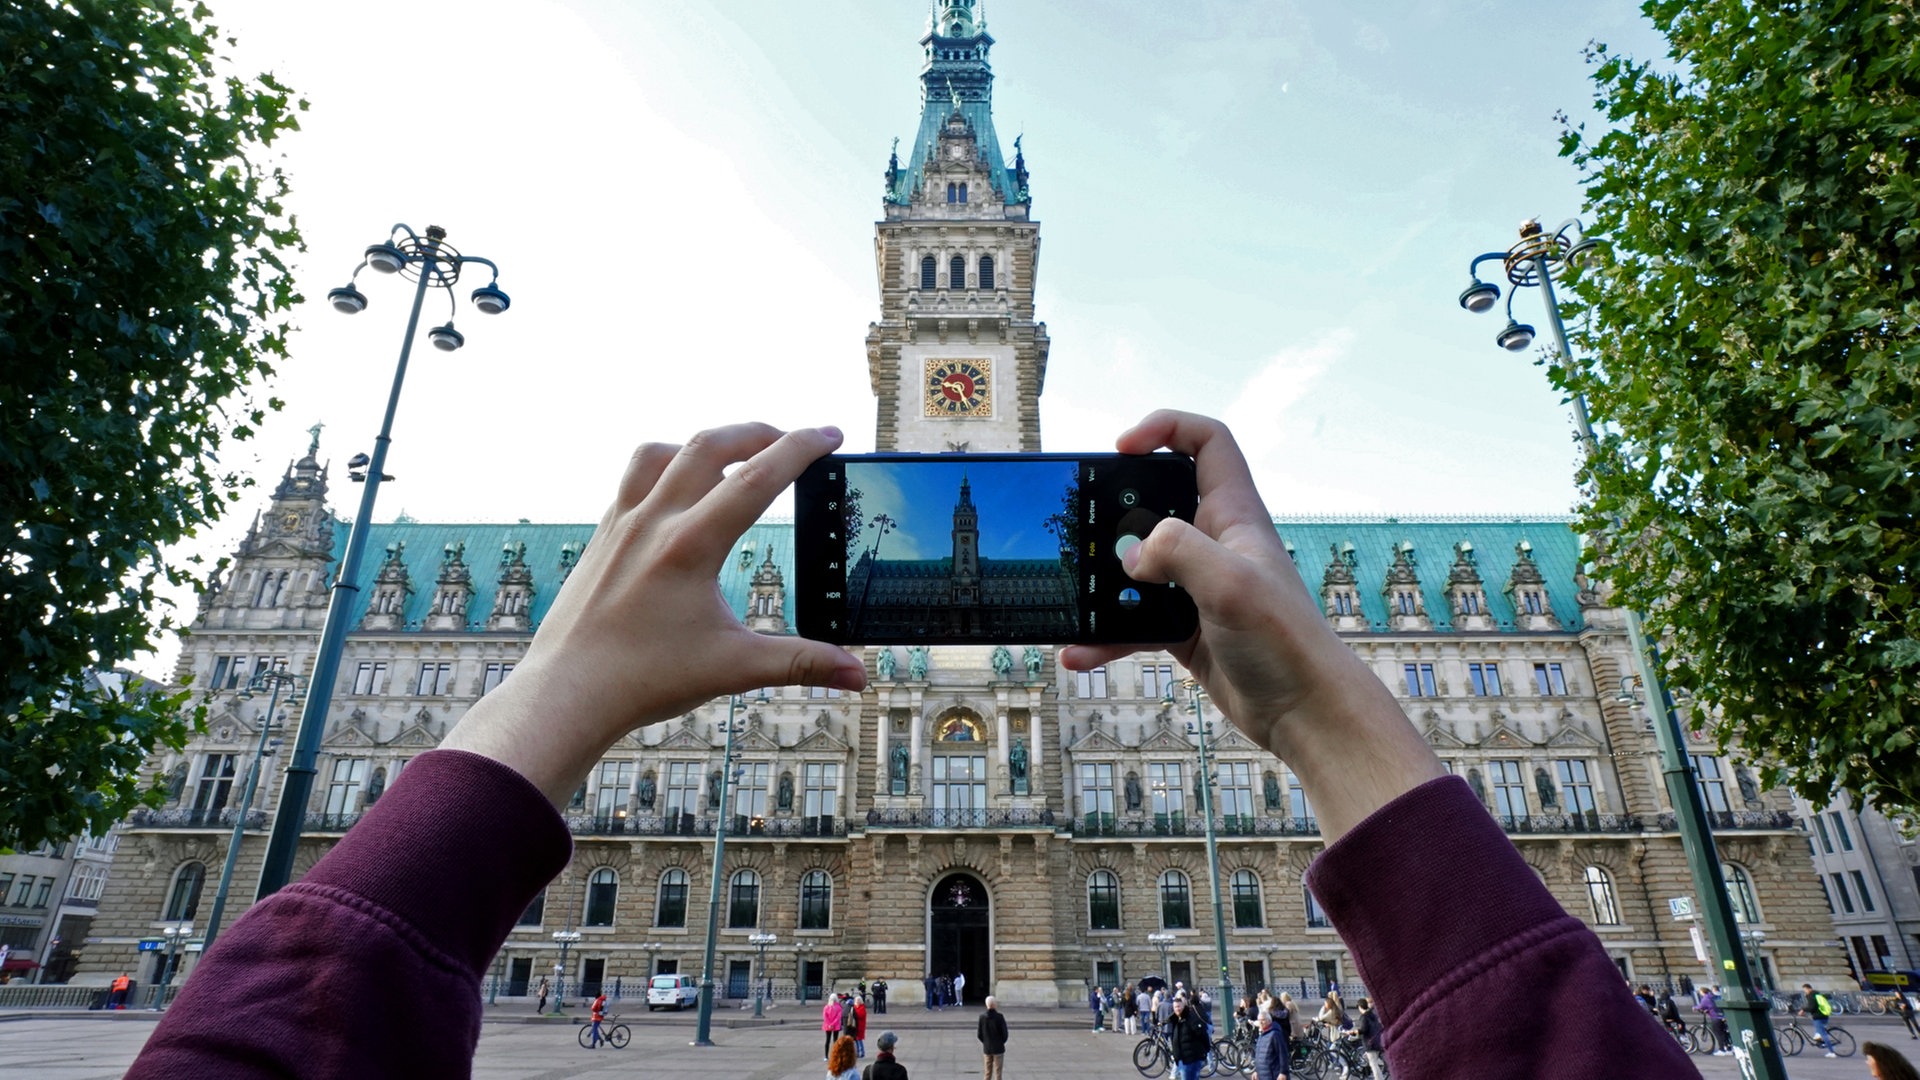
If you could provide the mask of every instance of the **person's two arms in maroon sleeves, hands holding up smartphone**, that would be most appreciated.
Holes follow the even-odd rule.
[[[480,980],[566,867],[561,807],[618,740],[758,686],[866,688],[860,657],[755,634],[714,588],[741,532],[839,442],[833,429],[737,425],[641,446],[513,678],[305,878],[221,936],[129,1076],[470,1076]],[[1619,1080],[1626,1063],[1638,1080],[1697,1076],[1327,626],[1233,434],[1160,411],[1117,448],[1194,457],[1194,523],[1162,521],[1123,569],[1192,594],[1200,630],[1165,648],[1313,801],[1327,849],[1308,884],[1380,1011],[1392,1072]],[[1087,671],[1129,651],[1068,646],[1060,663]]]

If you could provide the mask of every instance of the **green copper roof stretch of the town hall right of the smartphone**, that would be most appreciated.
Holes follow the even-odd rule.
[[[1421,596],[1427,600],[1427,615],[1434,630],[1453,630],[1453,605],[1448,603],[1448,571],[1453,565],[1453,546],[1461,540],[1473,544],[1475,565],[1480,580],[1486,582],[1486,609],[1494,617],[1494,626],[1513,632],[1513,600],[1503,592],[1513,563],[1519,561],[1515,544],[1532,544],[1534,563],[1546,578],[1548,600],[1553,615],[1569,632],[1582,626],[1580,603],[1574,600],[1572,575],[1580,571],[1580,536],[1567,517],[1511,517],[1511,519],[1440,519],[1440,517],[1323,517],[1288,521],[1277,517],[1273,527],[1294,548],[1294,565],[1308,592],[1319,600],[1321,578],[1327,573],[1331,552],[1344,542],[1354,544],[1357,565],[1354,567],[1359,609],[1367,625],[1386,632],[1386,600],[1380,586],[1386,571],[1394,565],[1394,546],[1402,540],[1413,542],[1413,559],[1421,578]]]

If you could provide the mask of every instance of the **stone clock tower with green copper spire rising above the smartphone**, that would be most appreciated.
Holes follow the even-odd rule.
[[[1041,225],[1027,163],[993,129],[993,38],[975,0],[939,0],[920,38],[920,131],[887,161],[874,229],[879,321],[866,365],[876,448],[1035,452],[1046,323],[1033,319]]]

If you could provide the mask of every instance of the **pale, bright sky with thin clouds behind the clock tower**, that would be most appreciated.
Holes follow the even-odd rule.
[[[924,2],[209,6],[238,71],[311,104],[278,146],[307,244],[292,361],[261,388],[286,409],[225,461],[271,490],[324,423],[351,515],[340,465],[371,450],[411,296],[374,273],[361,315],[324,296],[392,223],[499,263],[513,307],[472,311],[463,281],[467,346],[415,354],[380,521],[595,521],[636,444],[739,419],[874,450],[874,221],[920,117]],[[1235,427],[1283,517],[1571,507],[1565,404],[1455,298],[1523,219],[1580,211],[1553,113],[1603,123],[1590,40],[1665,52],[1632,2],[983,13],[1041,221],[1046,450],[1183,407]],[[1517,309],[1542,325],[1538,296]]]

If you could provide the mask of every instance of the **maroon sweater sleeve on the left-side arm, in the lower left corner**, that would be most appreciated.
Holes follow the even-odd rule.
[[[221,934],[129,1076],[468,1076],[480,976],[570,853],[513,769],[415,757],[305,878]]]

